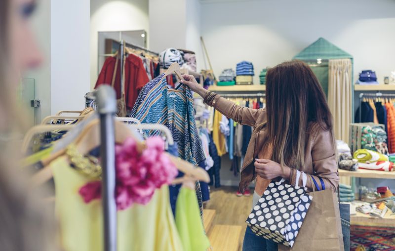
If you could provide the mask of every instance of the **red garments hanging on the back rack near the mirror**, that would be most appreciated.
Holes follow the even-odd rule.
[[[109,84],[113,80],[116,58],[109,57],[104,62],[103,68],[96,81],[95,89],[101,84]],[[118,59],[119,60],[119,59]],[[125,101],[126,108],[131,110],[139,95],[141,88],[149,82],[143,61],[140,57],[129,54],[125,60]],[[117,92],[117,99],[121,97],[120,92],[120,61],[118,61],[117,75],[114,88]]]

